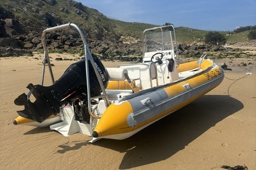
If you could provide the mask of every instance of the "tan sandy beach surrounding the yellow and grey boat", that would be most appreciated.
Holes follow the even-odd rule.
[[[55,61],[55,78],[74,61]],[[36,60],[35,58],[39,58]],[[74,58],[74,56],[73,56]],[[40,84],[42,56],[0,58],[0,169],[256,169],[256,61],[218,60],[225,71],[220,86],[126,140],[64,137],[49,127],[15,126],[13,100],[27,84]],[[232,63],[230,62],[232,61]],[[238,67],[240,63],[252,63]],[[106,67],[118,63],[104,62]],[[247,77],[246,73],[252,72]],[[48,69],[46,78],[49,80]],[[238,78],[241,78],[238,81]],[[44,85],[51,84],[46,81]]]

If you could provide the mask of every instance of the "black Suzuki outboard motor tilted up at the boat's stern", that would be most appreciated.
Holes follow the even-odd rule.
[[[102,78],[104,87],[107,87],[108,75],[105,71],[105,67],[95,55],[93,55],[93,60],[96,69]],[[101,86],[90,62],[88,62],[88,66],[90,72],[90,95],[91,97],[95,97],[101,95]],[[25,107],[24,110],[17,111],[21,117],[29,118],[41,123],[50,115],[58,114],[60,112],[60,107],[65,106],[68,103],[74,103],[76,120],[88,120],[88,116],[85,116],[85,112],[83,111],[86,110],[86,107],[88,112],[88,106],[80,108],[77,105],[79,104],[77,99],[81,98],[82,100],[86,101],[84,105],[88,104],[87,100],[85,100],[85,98],[87,99],[85,60],[71,64],[63,73],[62,77],[52,84],[52,86],[46,87],[41,85],[33,85],[30,83],[27,86],[27,89],[30,90],[29,94],[21,94],[14,101],[16,105],[24,105]],[[29,100],[31,93],[36,99],[34,103]],[[79,111],[81,110],[83,111],[82,115],[79,115]]]

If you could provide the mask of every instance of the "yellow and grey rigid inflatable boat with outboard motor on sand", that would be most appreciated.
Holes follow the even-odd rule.
[[[84,42],[84,60],[71,64],[55,81],[44,35],[73,27]],[[180,63],[173,25],[143,32],[143,62],[105,68],[91,55],[84,33],[75,24],[63,24],[42,33],[44,62],[41,84],[29,84],[27,94],[15,100],[24,110],[13,124],[44,127],[65,136],[82,132],[121,140],[191,103],[218,86],[224,72],[202,55]],[[52,86],[43,86],[48,63]],[[35,101],[30,101],[34,95]]]

